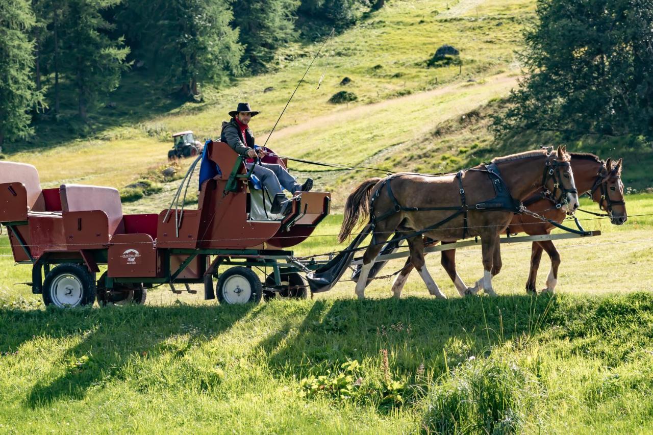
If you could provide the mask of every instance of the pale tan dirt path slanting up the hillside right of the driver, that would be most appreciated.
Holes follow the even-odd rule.
[[[509,82],[514,82],[517,84],[517,77],[510,76],[508,73],[499,74],[487,78],[485,80],[486,84],[505,84]],[[355,118],[364,116],[366,113],[373,112],[374,110],[381,110],[388,108],[389,106],[397,107],[409,107],[411,103],[416,103],[417,101],[422,101],[424,99],[431,99],[433,97],[438,97],[439,95],[445,95],[447,93],[458,91],[464,83],[450,84],[443,86],[442,88],[432,89],[430,91],[413,93],[411,95],[406,95],[405,97],[393,98],[385,101],[379,101],[379,103],[372,103],[370,105],[356,106],[351,109],[339,110],[335,113],[330,113],[327,115],[317,116],[316,118],[306,121],[299,125],[292,125],[291,127],[285,127],[276,132],[275,140],[279,140],[283,137],[290,135],[295,135],[297,133],[302,133],[304,131],[310,131],[315,129],[315,127],[322,127],[324,125],[331,125],[334,123],[342,123],[346,121],[351,121]]]

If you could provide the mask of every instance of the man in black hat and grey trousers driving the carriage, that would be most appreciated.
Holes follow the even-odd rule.
[[[245,166],[247,169],[254,167],[253,174],[261,180],[261,184],[266,188],[272,197],[272,213],[289,211],[289,202],[285,202],[286,207],[282,210],[281,204],[285,201],[283,189],[291,193],[298,191],[308,192],[313,188],[313,180],[307,178],[304,184],[297,184],[297,180],[282,165],[276,163],[257,163],[257,159],[263,159],[266,151],[263,148],[255,149],[254,135],[249,128],[249,120],[259,114],[251,110],[249,103],[238,103],[236,110],[229,112],[231,120],[222,123],[222,132],[220,140],[226,142],[238,154],[247,157]]]

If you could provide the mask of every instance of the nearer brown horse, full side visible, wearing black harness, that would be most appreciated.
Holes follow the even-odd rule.
[[[539,187],[546,187],[554,193],[561,192],[565,211],[571,212],[578,207],[569,160],[569,154],[559,147],[553,153],[539,150],[496,158],[491,165],[479,165],[454,175],[405,173],[362,182],[347,198],[338,237],[342,242],[351,234],[359,217],[370,216],[372,243],[363,255],[356,285],[358,298],[365,297],[374,260],[383,242],[395,231],[405,234],[411,263],[428,291],[439,298],[445,295],[424,265],[422,234],[445,242],[480,236],[485,269],[480,283],[485,293],[496,295],[492,276],[498,274],[502,266],[499,234],[505,231],[513,212],[518,210],[515,204],[524,201]],[[462,293],[470,290],[465,287]]]

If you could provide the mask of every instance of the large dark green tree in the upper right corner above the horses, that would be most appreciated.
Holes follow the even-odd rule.
[[[538,0],[499,131],[653,137],[653,1]]]

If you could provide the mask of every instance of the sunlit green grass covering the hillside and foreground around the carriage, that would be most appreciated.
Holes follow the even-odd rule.
[[[390,2],[336,38],[321,89],[314,90],[322,72],[317,68],[308,79],[313,89],[306,86],[298,93],[283,120],[287,127],[275,133],[270,146],[291,155],[342,162],[346,153],[347,163],[424,171],[468,165],[493,155],[497,147],[532,146],[537,139],[496,144],[486,121],[461,120],[462,114],[505,95],[513,83],[512,50],[531,13],[532,3],[522,0]],[[445,42],[462,50],[461,76],[453,67],[424,68]],[[257,133],[264,138],[313,52],[314,45],[291,46],[281,54],[278,72],[240,80],[235,89],[208,91],[199,105],[170,110],[159,102],[157,110],[165,114],[157,116],[145,116],[138,107],[132,113],[121,108],[128,120],[122,127],[100,116],[96,137],[104,140],[54,140],[58,147],[10,158],[35,163],[44,185],[65,180],[122,187],[145,166],[165,161],[168,142],[158,137],[188,127],[200,137],[215,137],[224,112],[241,97],[264,108],[256,118]],[[323,67],[326,61],[320,62]],[[404,75],[393,77],[396,72]],[[341,89],[338,82],[345,75],[353,79],[347,89],[360,101],[329,105],[328,97]],[[121,91],[133,93],[139,80],[130,76]],[[266,86],[275,89],[263,93]],[[436,130],[439,134],[432,135]],[[426,152],[415,150],[416,141]],[[349,185],[365,176],[315,175],[321,185],[337,187],[336,205]],[[165,191],[127,209],[158,210],[169,195]],[[372,300],[363,304],[353,300],[352,283],[342,282],[314,300],[258,307],[215,306],[197,296],[156,289],[144,307],[60,312],[44,310],[37,295],[14,285],[29,280],[29,268],[12,266],[3,248],[7,237],[0,236],[0,330],[5,332],[0,335],[0,428],[87,432],[90,423],[94,432],[432,430],[442,427],[438,421],[452,423],[449,415],[456,410],[438,406],[445,399],[482,405],[479,395],[464,394],[479,380],[475,372],[499,364],[496,357],[512,365],[500,370],[495,378],[503,387],[492,392],[500,402],[506,398],[504,404],[511,397],[526,398],[517,400],[504,419],[525,432],[650,431],[653,300],[632,292],[653,289],[653,272],[642,266],[653,261],[653,221],[633,217],[650,213],[653,197],[633,195],[627,201],[631,218],[624,227],[585,221],[588,229],[604,235],[556,244],[563,257],[562,295],[554,299],[523,295],[530,247],[520,245],[502,249],[504,268],[496,279],[502,297],[494,300],[456,297],[438,256],[431,255],[429,269],[451,298],[447,301],[430,300],[415,275],[404,289],[406,298],[398,302],[387,300],[390,280],[379,280],[368,287]],[[321,237],[302,244],[298,253],[334,249],[340,219],[325,220]],[[479,251],[460,251],[458,257],[464,280],[479,278]],[[548,264],[543,259],[541,285]],[[388,271],[398,266],[395,261]],[[629,294],[611,295],[615,292]],[[387,372],[381,349],[389,354]],[[465,362],[471,356],[476,359]],[[302,395],[300,379],[332,377],[327,370],[339,372],[347,359],[362,363],[353,372],[361,378],[353,399]],[[530,383],[514,383],[517,378],[511,376]],[[399,391],[404,406],[389,406],[390,394],[397,391],[388,391],[388,379],[405,387]],[[478,416],[484,410],[471,412],[477,417],[460,416],[458,430],[482,432]]]

